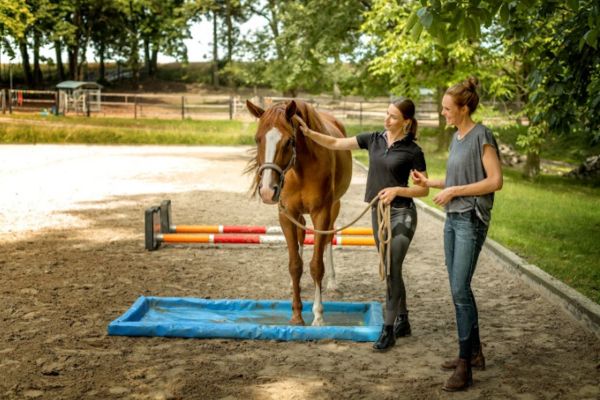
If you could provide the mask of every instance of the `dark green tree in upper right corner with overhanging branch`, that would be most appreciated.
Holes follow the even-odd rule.
[[[519,142],[528,152],[525,174],[539,171],[547,134],[583,134],[600,139],[600,4],[594,0],[422,0],[415,15],[420,29],[444,37],[448,21],[456,37],[478,38],[497,24],[507,49],[522,57],[525,112],[530,121]],[[413,18],[414,19],[414,18]],[[408,24],[407,24],[408,25]],[[418,35],[417,35],[418,36]]]

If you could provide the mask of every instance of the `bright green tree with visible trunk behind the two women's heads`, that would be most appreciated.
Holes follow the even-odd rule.
[[[434,90],[438,150],[446,150],[450,136],[445,118],[441,115],[446,89],[468,75],[477,75],[489,78],[491,84],[487,90],[494,91],[494,95],[505,95],[501,92],[502,86],[494,85],[505,76],[499,66],[503,55],[491,40],[485,41],[485,46],[482,46],[475,40],[458,37],[448,40],[447,35],[436,37],[422,32],[422,25],[416,24],[419,8],[417,1],[395,3],[376,0],[366,14],[362,29],[375,48],[370,69],[374,74],[387,78],[391,93],[418,99],[420,88]],[[427,18],[425,15],[421,17]],[[413,29],[415,26],[417,28]],[[412,38],[409,36],[411,29]]]

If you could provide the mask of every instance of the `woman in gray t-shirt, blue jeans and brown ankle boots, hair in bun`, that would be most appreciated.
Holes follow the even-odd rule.
[[[454,370],[443,386],[447,391],[466,389],[473,383],[471,367],[485,368],[471,279],[487,235],[494,192],[502,188],[502,169],[491,131],[471,118],[479,104],[477,84],[475,78],[458,83],[442,100],[442,115],[457,128],[450,144],[446,178],[433,180],[418,171],[411,173],[415,184],[443,189],[433,201],[446,209],[444,251],[459,343],[458,358],[442,364]]]

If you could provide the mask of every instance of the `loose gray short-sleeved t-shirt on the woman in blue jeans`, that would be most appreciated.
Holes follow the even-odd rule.
[[[494,147],[498,158],[498,144],[489,128],[477,124],[467,136],[458,139],[458,131],[452,136],[450,154],[446,165],[446,187],[468,185],[479,182],[487,177],[483,168],[483,146]],[[479,219],[486,225],[491,219],[494,193],[481,196],[455,197],[446,204],[446,212],[466,212],[475,210]]]

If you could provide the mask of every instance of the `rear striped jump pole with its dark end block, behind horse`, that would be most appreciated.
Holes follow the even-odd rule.
[[[255,233],[282,235],[280,226],[248,226],[248,225],[174,225],[171,214],[171,200],[164,200],[160,205],[160,231],[162,233]],[[307,234],[314,233],[307,230]],[[373,235],[372,228],[350,227],[339,232],[340,235]]]

